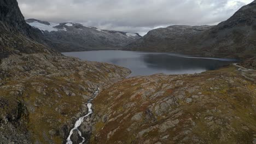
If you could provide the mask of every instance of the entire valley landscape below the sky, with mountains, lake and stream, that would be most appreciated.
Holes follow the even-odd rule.
[[[255,5],[141,37],[0,1],[0,143],[255,144]]]

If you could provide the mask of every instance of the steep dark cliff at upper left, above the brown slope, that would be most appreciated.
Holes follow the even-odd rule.
[[[0,58],[11,53],[55,53],[55,51],[37,43],[37,31],[27,25],[16,1],[0,1]]]

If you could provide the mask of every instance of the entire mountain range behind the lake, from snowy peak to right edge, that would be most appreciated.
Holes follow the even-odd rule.
[[[217,26],[169,26],[138,33],[102,30],[80,23],[26,22],[37,41],[59,52],[132,50],[178,52],[207,57],[247,57],[256,53],[256,2]]]

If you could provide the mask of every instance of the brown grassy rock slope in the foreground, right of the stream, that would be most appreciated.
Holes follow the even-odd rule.
[[[94,100],[91,143],[252,143],[255,92],[235,67],[131,77]]]

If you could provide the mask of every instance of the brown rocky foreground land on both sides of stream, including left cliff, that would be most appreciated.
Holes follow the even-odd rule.
[[[0,1],[0,14],[0,143],[66,143],[90,110],[73,143],[256,143],[254,58],[201,74],[125,79],[126,68],[43,45],[45,31],[26,24],[16,0]]]

